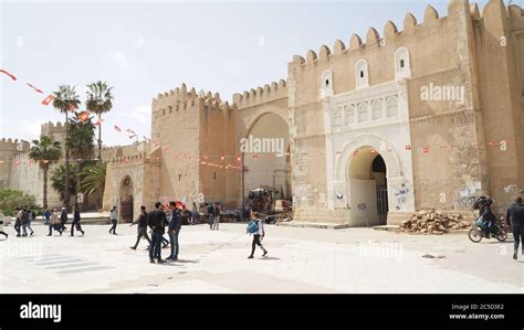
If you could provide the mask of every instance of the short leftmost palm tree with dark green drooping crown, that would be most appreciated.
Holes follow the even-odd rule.
[[[48,172],[51,162],[57,161],[60,157],[62,157],[62,146],[59,141],[55,141],[53,137],[42,135],[40,136],[40,140],[32,141],[31,149],[29,149],[29,157],[38,161],[43,171],[43,207],[48,209]]]

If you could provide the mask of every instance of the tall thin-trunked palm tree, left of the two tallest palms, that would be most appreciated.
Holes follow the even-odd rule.
[[[69,131],[67,131],[67,121],[69,121],[69,111],[77,109],[80,105],[80,98],[74,87],[70,85],[61,85],[59,86],[59,91],[53,92],[53,107],[65,114],[65,139],[67,140]],[[64,174],[64,206],[69,210],[70,205],[70,150],[67,143],[65,143],[65,174]]]

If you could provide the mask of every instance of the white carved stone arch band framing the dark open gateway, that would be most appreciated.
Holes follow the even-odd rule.
[[[402,175],[399,157],[391,143],[379,136],[366,134],[356,137],[344,146],[340,156],[335,162],[335,180],[347,180],[347,169],[352,159],[355,157],[355,151],[363,147],[371,147],[382,157],[386,162],[387,178]]]

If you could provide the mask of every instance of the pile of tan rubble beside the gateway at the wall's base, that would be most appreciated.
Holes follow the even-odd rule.
[[[429,210],[415,212],[411,219],[402,221],[399,231],[415,235],[442,235],[450,230],[464,230],[470,226],[471,223],[461,214]]]

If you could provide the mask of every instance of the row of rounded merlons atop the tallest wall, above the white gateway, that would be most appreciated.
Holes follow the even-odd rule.
[[[491,2],[497,1],[500,0],[491,0]],[[491,2],[484,7],[483,12],[486,10],[488,7],[491,6]],[[462,10],[461,7],[465,7],[467,4],[468,1],[465,0],[450,0],[448,3],[448,15],[442,18],[439,17],[439,13],[433,7],[428,6],[423,14],[423,22],[420,24],[417,22],[415,15],[408,12],[406,13],[406,17],[404,19],[402,31],[399,31],[394,22],[387,21],[382,29],[382,35],[378,33],[377,29],[370,26],[366,33],[365,42],[363,42],[363,39],[358,34],[353,34],[349,39],[347,47],[343,41],[336,40],[333,46],[333,51],[326,45],[322,45],[318,50],[318,53],[313,50],[307,50],[304,56],[293,55],[293,60],[290,65],[300,67],[315,66],[318,63],[325,63],[335,56],[344,55],[350,52],[359,51],[363,49],[378,49],[387,46],[389,40],[399,38],[401,35],[423,34],[426,29],[434,29],[436,24],[438,24],[439,22],[447,20],[448,18],[455,18],[458,14],[460,14]],[[520,12],[521,10],[522,9],[520,9],[518,7],[515,9],[511,9],[511,11],[515,13]],[[474,20],[479,20],[483,17],[483,14],[479,12],[479,8],[476,4],[471,4],[469,11]]]

